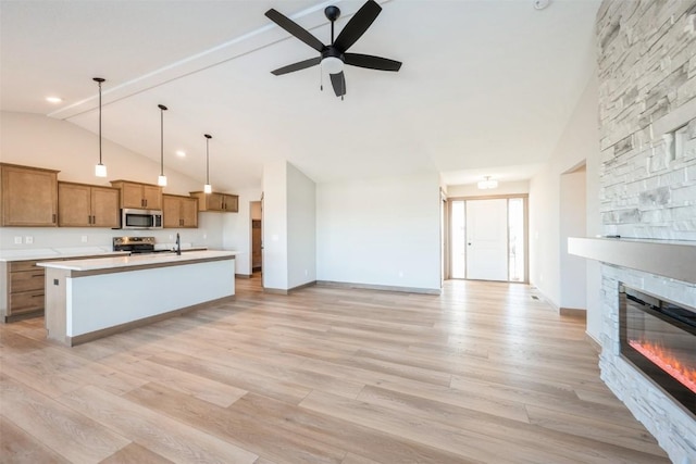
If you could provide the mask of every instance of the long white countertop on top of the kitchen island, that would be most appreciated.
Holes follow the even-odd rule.
[[[206,250],[206,251],[188,251],[185,253],[154,253],[154,254],[136,254],[133,256],[111,256],[97,258],[91,260],[72,260],[72,261],[47,261],[37,263],[38,266],[52,267],[66,271],[101,271],[113,269],[120,267],[146,266],[151,264],[175,263],[185,264],[187,261],[209,260],[215,258],[234,258],[237,251]]]

